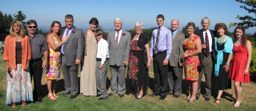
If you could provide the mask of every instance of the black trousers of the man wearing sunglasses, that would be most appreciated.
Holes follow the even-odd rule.
[[[34,101],[42,100],[42,58],[29,61],[31,81],[34,81],[33,99]]]

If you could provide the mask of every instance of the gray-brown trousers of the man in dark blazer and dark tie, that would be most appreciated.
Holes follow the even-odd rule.
[[[204,60],[203,60],[204,68],[201,70],[201,72],[199,72],[198,90],[196,92],[197,97],[200,97],[200,92],[201,92],[200,84],[201,84],[201,79],[203,77],[203,74],[205,78],[205,91],[206,91],[206,93],[204,94],[204,98],[211,97],[212,69],[213,69],[211,55],[212,54],[210,54],[208,57],[204,56]]]

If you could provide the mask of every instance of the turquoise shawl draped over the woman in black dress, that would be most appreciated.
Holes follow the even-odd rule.
[[[227,38],[227,41],[224,45],[224,49],[223,50],[217,50],[217,37],[214,37],[214,40],[215,40],[215,50],[217,52],[217,63],[215,64],[215,68],[214,68],[214,75],[215,77],[219,76],[219,70],[220,70],[220,64],[223,63],[223,52],[226,52],[226,53],[231,53],[233,54],[233,41],[232,39],[228,36]]]

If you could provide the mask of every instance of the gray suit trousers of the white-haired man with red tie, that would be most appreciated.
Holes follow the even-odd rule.
[[[109,65],[110,71],[111,71],[111,92],[112,94],[115,94],[117,92],[117,86],[118,86],[118,94],[124,94],[125,93],[125,70],[126,66],[116,66],[115,65]],[[118,81],[117,81],[117,71],[118,71]],[[117,83],[118,82],[118,83]]]

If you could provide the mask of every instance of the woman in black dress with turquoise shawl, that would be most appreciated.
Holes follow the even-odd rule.
[[[215,59],[214,75],[212,75],[212,89],[218,90],[218,96],[215,98],[214,104],[220,103],[220,97],[223,90],[231,89],[231,80],[229,79],[229,65],[232,58],[233,41],[225,35],[228,27],[224,23],[217,23],[215,31],[218,36],[214,37],[214,46],[212,56]]]

